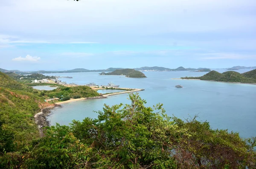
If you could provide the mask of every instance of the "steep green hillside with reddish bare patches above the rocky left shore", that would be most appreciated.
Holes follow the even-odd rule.
[[[48,106],[38,91],[0,72],[0,121],[19,146],[39,136],[34,115]]]

